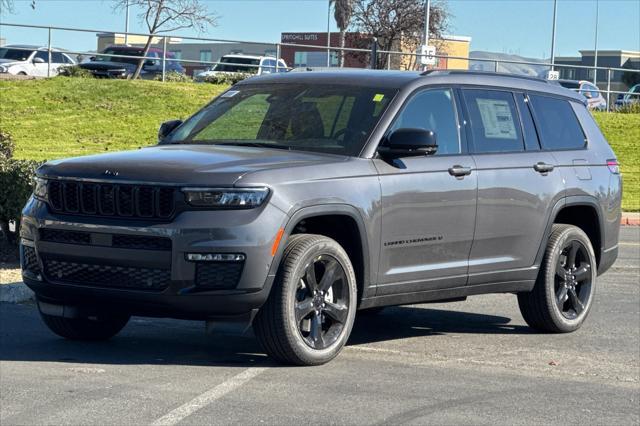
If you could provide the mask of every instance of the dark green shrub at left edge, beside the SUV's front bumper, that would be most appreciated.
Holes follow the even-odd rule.
[[[40,162],[0,158],[0,226],[8,229],[10,220],[19,225],[22,208],[33,191],[35,170]],[[13,236],[7,233],[9,240]]]

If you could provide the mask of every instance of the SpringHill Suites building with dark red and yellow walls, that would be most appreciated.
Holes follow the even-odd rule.
[[[326,32],[292,32],[282,33],[280,42],[283,44],[281,56],[292,67],[326,67],[327,66],[327,36]],[[340,33],[330,33],[331,46],[340,46]],[[471,37],[445,36],[442,40],[432,40],[436,45],[437,54],[451,58],[439,58],[437,68],[467,69],[469,66],[469,48]],[[392,50],[403,53],[415,53],[417,48],[409,43],[400,41]],[[293,46],[296,45],[296,46]],[[317,47],[316,47],[317,46]],[[345,35],[346,48],[369,49],[371,37],[360,33]],[[366,68],[369,65],[369,55],[365,52],[345,52],[344,66],[350,68]],[[455,57],[455,58],[454,58]],[[463,58],[463,59],[457,59]],[[389,68],[410,70],[416,69],[415,55],[390,55],[383,57],[385,65],[389,60]],[[339,53],[336,50],[329,53],[329,66],[339,65]]]

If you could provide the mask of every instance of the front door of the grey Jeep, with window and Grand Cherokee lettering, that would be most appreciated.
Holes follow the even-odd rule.
[[[403,107],[389,134],[422,128],[436,134],[436,154],[373,160],[382,189],[377,295],[464,286],[473,240],[477,180],[450,88],[426,89]]]

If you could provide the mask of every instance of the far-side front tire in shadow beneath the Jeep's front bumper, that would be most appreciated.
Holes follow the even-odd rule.
[[[64,318],[40,312],[44,323],[60,337],[69,340],[107,340],[127,325],[128,316]]]

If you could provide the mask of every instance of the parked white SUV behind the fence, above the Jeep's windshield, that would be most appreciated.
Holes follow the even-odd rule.
[[[224,55],[219,63],[209,68],[207,71],[196,74],[196,81],[204,81],[206,77],[220,74],[272,74],[275,72],[287,72],[287,64],[282,59],[273,56],[253,56],[253,55]],[[277,69],[276,69],[277,64]]]

